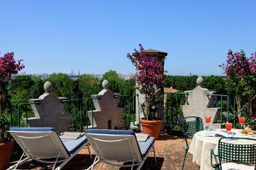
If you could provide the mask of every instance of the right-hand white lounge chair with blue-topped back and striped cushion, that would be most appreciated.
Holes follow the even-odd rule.
[[[96,158],[88,168],[103,161],[117,167],[143,167],[150,149],[154,150],[154,138],[148,136],[144,141],[137,141],[132,131],[88,129],[85,133],[90,145],[96,151]],[[154,152],[155,159],[155,152]]]

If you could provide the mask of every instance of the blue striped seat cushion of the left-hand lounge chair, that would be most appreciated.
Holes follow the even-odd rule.
[[[69,154],[73,154],[76,150],[78,150],[81,145],[85,144],[87,139],[85,136],[82,136],[79,139],[76,140],[67,140],[67,139],[62,139],[62,143],[65,145],[67,151]]]

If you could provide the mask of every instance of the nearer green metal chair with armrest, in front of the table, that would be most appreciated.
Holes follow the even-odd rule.
[[[236,144],[234,144],[236,141]],[[233,142],[233,143],[232,143]],[[215,164],[212,162],[212,158],[217,161]],[[227,163],[233,163],[231,167]],[[226,163],[226,164],[225,164]],[[215,155],[211,150],[211,165],[216,170],[224,170],[225,167],[231,169],[237,169],[237,164],[240,163],[243,166],[242,169],[254,169],[256,170],[256,139],[248,138],[221,138],[218,140],[218,155]]]

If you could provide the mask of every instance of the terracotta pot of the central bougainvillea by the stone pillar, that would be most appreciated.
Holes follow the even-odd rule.
[[[143,127],[143,133],[148,133],[154,139],[159,139],[163,120],[148,121],[140,119]]]

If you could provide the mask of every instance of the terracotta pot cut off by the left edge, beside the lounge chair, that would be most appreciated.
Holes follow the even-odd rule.
[[[9,156],[14,145],[14,140],[6,143],[0,143],[0,170],[4,170],[9,165]]]

